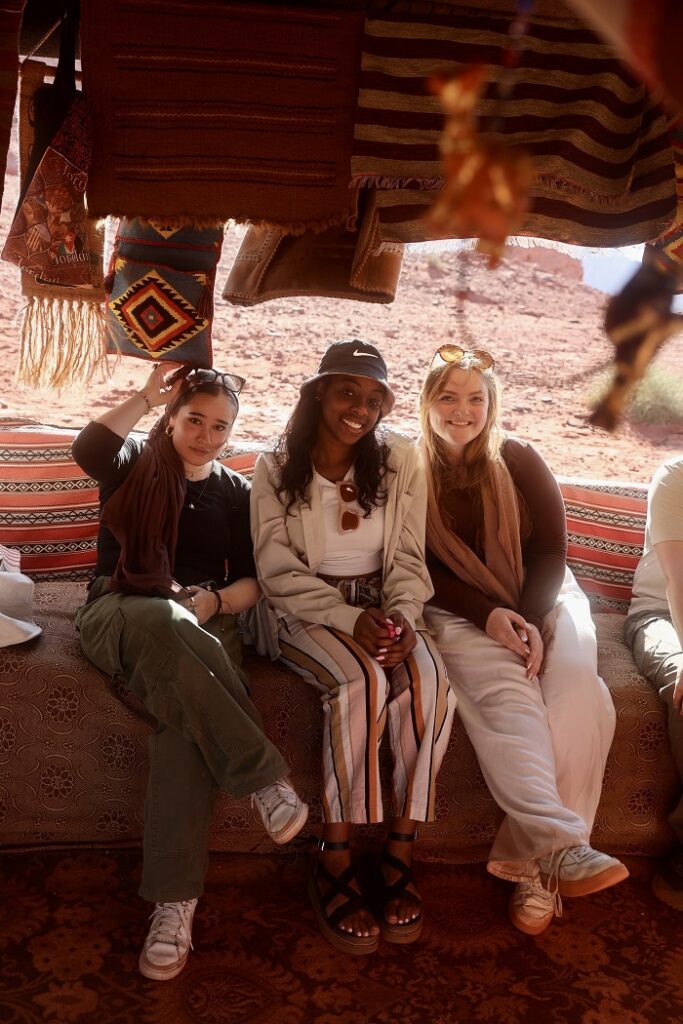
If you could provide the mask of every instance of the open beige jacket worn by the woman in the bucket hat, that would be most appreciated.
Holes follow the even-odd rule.
[[[422,608],[432,596],[425,565],[427,486],[416,446],[401,434],[387,432],[390,474],[385,506],[382,607],[402,612],[423,628]],[[251,492],[251,529],[261,589],[278,616],[294,615],[352,635],[361,608],[347,604],[316,574],[325,554],[319,490],[285,513],[286,498],[275,494],[278,470],[272,454],[256,463]],[[276,624],[273,624],[276,625]]]

